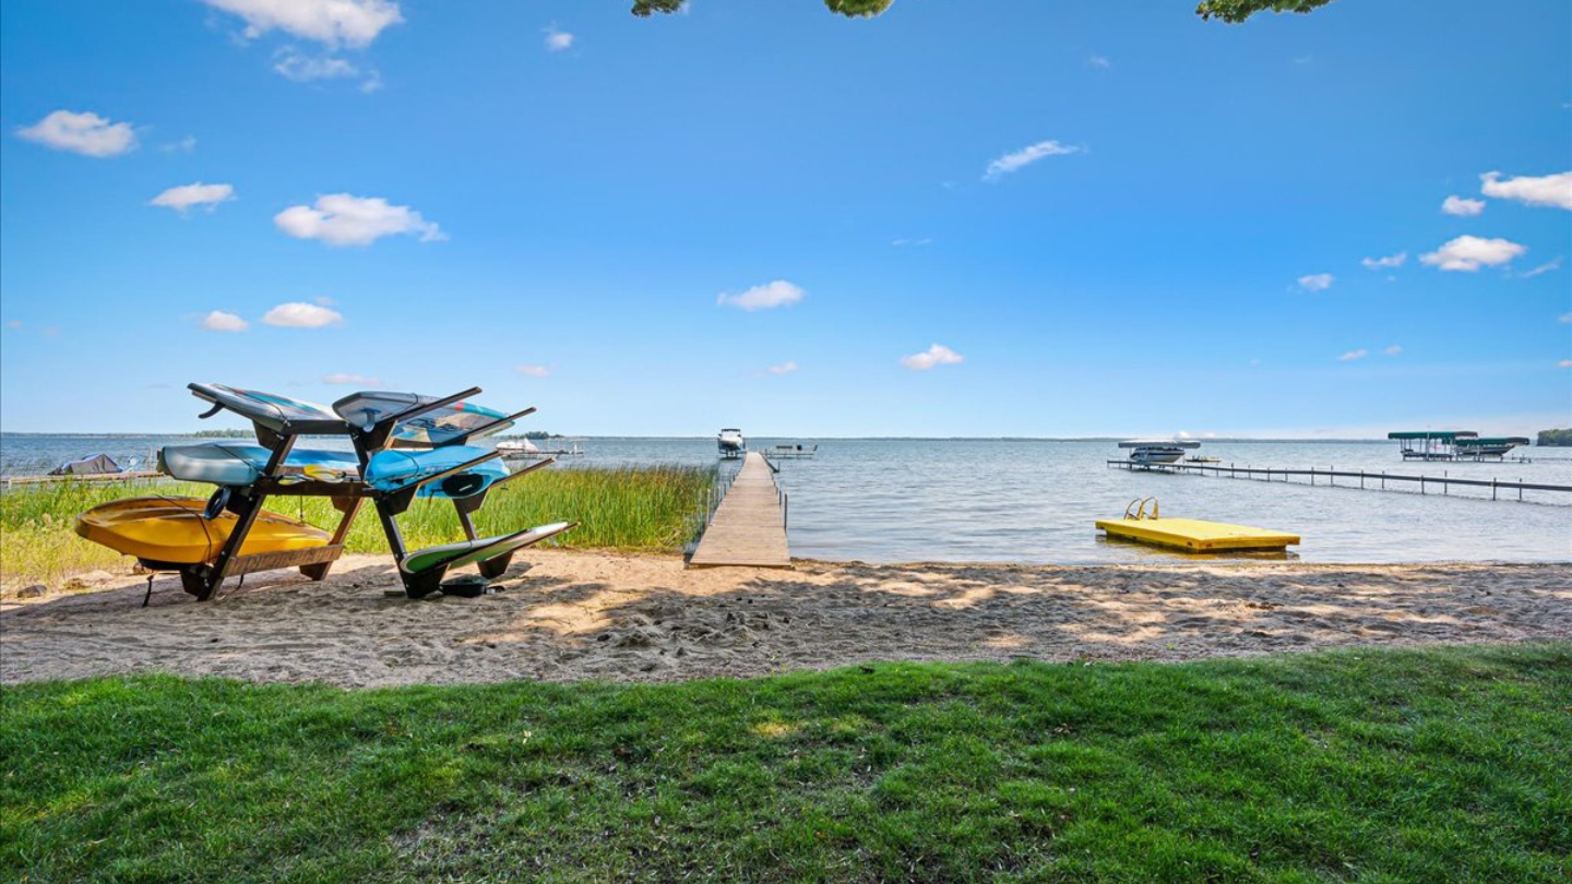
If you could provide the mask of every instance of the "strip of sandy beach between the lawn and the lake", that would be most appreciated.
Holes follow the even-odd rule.
[[[259,577],[259,579],[258,579]],[[835,565],[685,569],[533,551],[478,599],[409,601],[354,555],[196,602],[102,577],[6,599],[0,678],[167,672],[338,686],[676,681],[868,661],[1185,661],[1328,646],[1572,637],[1572,565]]]

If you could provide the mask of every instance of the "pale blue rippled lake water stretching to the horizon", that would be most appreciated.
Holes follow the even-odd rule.
[[[46,472],[107,451],[148,462],[184,437],[0,436],[0,475]],[[750,439],[756,448],[775,439]],[[784,440],[781,440],[784,442]],[[1154,563],[1185,557],[1105,541],[1094,519],[1155,495],[1165,516],[1192,516],[1302,535],[1302,562],[1572,560],[1572,494],[1489,489],[1358,491],[1110,469],[1104,440],[792,439],[817,456],[783,461],[792,555],[861,562]],[[564,466],[714,464],[714,439],[583,439]],[[318,445],[316,447],[332,447]],[[1206,442],[1239,467],[1336,467],[1572,486],[1572,450],[1519,448],[1531,462],[1404,462],[1390,442]],[[528,480],[525,480],[528,481]],[[1300,480],[1295,480],[1300,481]],[[1357,486],[1357,480],[1352,483]],[[1432,489],[1435,491],[1435,489]],[[593,513],[564,513],[586,519]]]

